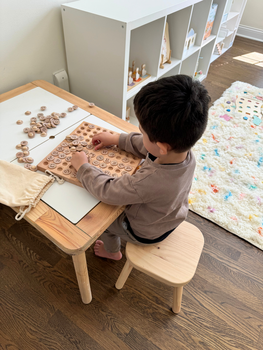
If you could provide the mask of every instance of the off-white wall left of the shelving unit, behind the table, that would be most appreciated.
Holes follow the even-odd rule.
[[[0,94],[67,70],[61,3],[0,0]]]

